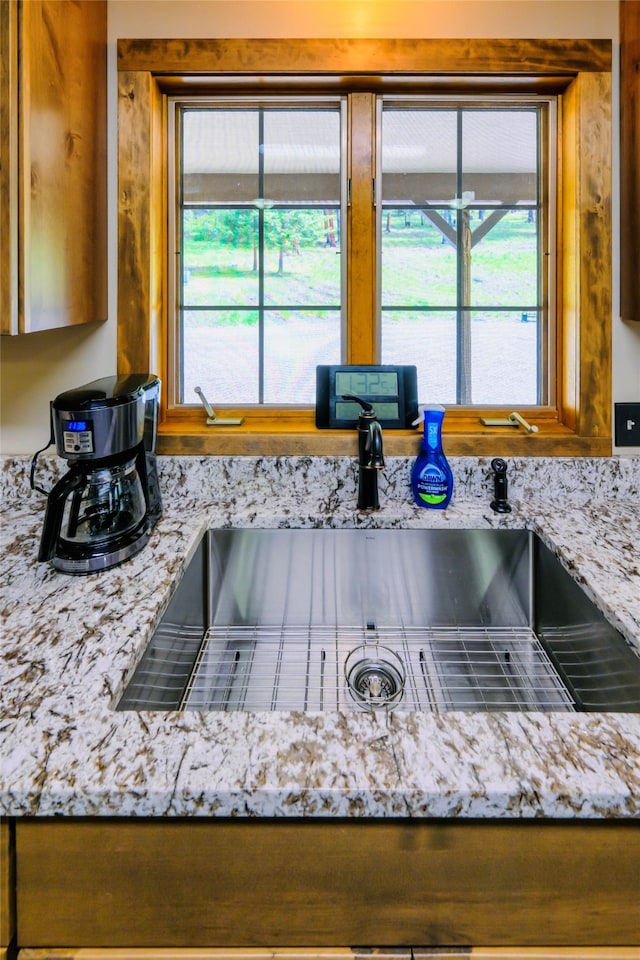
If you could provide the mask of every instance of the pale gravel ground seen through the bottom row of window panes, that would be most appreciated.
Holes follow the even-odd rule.
[[[339,331],[330,320],[280,321],[266,331],[265,402],[315,405],[315,368],[339,363]],[[536,328],[519,319],[472,322],[472,400],[476,404],[536,403]],[[200,386],[215,404],[257,402],[257,327],[195,327],[184,332],[184,400]],[[393,321],[383,363],[415,364],[421,403],[455,403],[455,325]]]

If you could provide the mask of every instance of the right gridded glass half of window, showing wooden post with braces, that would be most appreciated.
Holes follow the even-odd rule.
[[[381,356],[421,400],[544,401],[540,109],[383,105]]]

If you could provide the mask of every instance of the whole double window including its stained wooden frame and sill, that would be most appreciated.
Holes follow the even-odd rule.
[[[121,41],[119,64],[119,357],[161,373],[161,450],[349,452],[313,411],[315,365],[346,361],[416,363],[454,455],[610,452],[609,44]],[[207,433],[195,386],[243,426]],[[481,425],[522,407],[535,447]]]

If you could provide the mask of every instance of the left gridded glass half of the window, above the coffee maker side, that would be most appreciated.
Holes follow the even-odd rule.
[[[340,103],[182,118],[180,402],[312,404],[342,356]]]

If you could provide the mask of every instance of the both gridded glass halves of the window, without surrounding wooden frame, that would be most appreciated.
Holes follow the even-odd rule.
[[[376,98],[375,360],[415,364],[423,401],[548,400],[554,107]],[[349,109],[172,101],[177,404],[201,386],[216,405],[313,406],[318,363],[365,362],[346,351]]]

